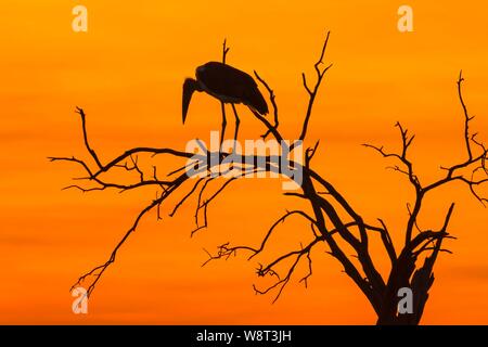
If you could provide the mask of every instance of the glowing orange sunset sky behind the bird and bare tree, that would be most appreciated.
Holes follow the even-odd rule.
[[[209,228],[193,239],[192,203],[158,223],[151,215],[100,282],[89,314],[74,314],[70,285],[105,260],[154,192],[61,191],[80,171],[47,157],[86,155],[77,105],[102,160],[131,146],[184,149],[192,138],[207,138],[219,128],[219,103],[196,95],[182,127],[181,83],[195,66],[220,59],[223,38],[230,64],[257,69],[273,87],[280,127],[292,139],[306,106],[300,73],[312,73],[330,29],[326,60],[334,67],[308,134],[310,143],[321,139],[314,165],[365,217],[382,217],[402,240],[411,192],[360,144],[395,145],[393,125],[400,120],[416,133],[412,157],[422,177],[438,177],[440,164],[463,155],[454,85],[461,68],[473,127],[488,140],[488,4],[408,1],[414,33],[401,34],[403,1],[84,0],[89,27],[77,34],[70,22],[78,3],[0,5],[0,323],[373,323],[365,298],[324,247],[314,254],[309,288],[297,274],[274,305],[272,296],[254,295],[256,262],[241,257],[200,267],[203,247],[256,243],[285,208],[300,206],[282,196],[278,180],[235,182],[210,206]],[[242,114],[242,138],[260,133]],[[421,221],[438,227],[451,201],[458,205],[450,232],[459,240],[449,243],[454,254],[437,262],[422,322],[487,324],[486,209],[454,185],[433,195]],[[295,242],[305,228],[295,219],[274,243]]]

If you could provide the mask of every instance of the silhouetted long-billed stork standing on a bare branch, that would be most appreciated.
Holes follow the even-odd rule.
[[[234,104],[244,104],[253,113],[259,115],[268,114],[268,104],[260,93],[256,81],[246,73],[230,65],[209,62],[198,66],[195,72],[196,79],[187,78],[183,83],[183,124],[187,119],[188,108],[192,94],[195,91],[206,92],[222,102],[222,116],[224,117],[223,104],[230,103],[236,119],[235,136],[239,129],[239,116]],[[222,121],[222,137],[226,119]]]

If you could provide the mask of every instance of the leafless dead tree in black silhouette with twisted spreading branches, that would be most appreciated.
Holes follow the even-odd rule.
[[[325,73],[331,68],[331,65],[324,65],[323,60],[329,42],[330,33],[328,33],[319,59],[314,63],[316,78],[314,82],[310,83],[309,78],[305,74],[301,75],[303,86],[308,95],[308,105],[305,112],[303,127],[299,132],[299,140],[305,140],[309,127],[309,120],[313,113],[313,104],[318,97],[319,89],[325,76]],[[222,61],[226,62],[226,55],[229,51],[226,43],[223,46]],[[256,72],[256,78],[260,81],[268,92],[268,98],[272,105],[273,124],[267,118],[255,114],[264,126],[265,133],[262,138],[272,136],[281,143],[283,155],[287,155],[293,151],[300,150],[300,143],[294,142],[290,145],[281,140],[283,137],[279,128],[279,108],[275,102],[275,95],[269,85]],[[297,266],[304,261],[308,265],[308,271],[300,277],[299,282],[307,285],[307,280],[312,275],[312,257],[310,253],[313,247],[319,244],[325,244],[329,248],[329,254],[334,257],[344,267],[344,272],[352,280],[352,282],[365,295],[375,313],[377,314],[377,324],[419,324],[425,304],[428,299],[428,291],[434,282],[434,265],[438,258],[439,253],[447,252],[442,246],[446,239],[453,239],[448,233],[448,226],[452,218],[454,210],[454,203],[452,202],[449,208],[442,216],[442,221],[439,228],[421,229],[418,220],[422,214],[424,201],[440,188],[452,182],[463,183],[472,193],[472,195],[483,205],[488,203],[488,200],[483,197],[479,193],[479,188],[488,181],[488,168],[486,166],[487,149],[477,140],[476,133],[472,133],[470,125],[473,117],[470,116],[467,107],[463,100],[462,73],[458,79],[458,98],[460,100],[464,121],[463,121],[463,139],[465,146],[465,156],[459,162],[449,166],[442,166],[442,178],[433,181],[424,182],[415,171],[415,166],[409,156],[409,150],[412,146],[414,136],[409,134],[408,130],[397,123],[396,127],[399,131],[399,139],[401,142],[401,150],[399,152],[390,152],[383,146],[373,144],[364,144],[364,146],[372,149],[385,158],[393,158],[397,165],[393,169],[408,179],[408,183],[414,191],[414,200],[408,206],[409,218],[404,226],[404,241],[401,249],[394,246],[386,222],[377,218],[377,220],[367,221],[358,211],[357,207],[352,206],[345,195],[339,192],[333,183],[325,177],[317,172],[312,168],[312,158],[319,146],[319,142],[312,147],[305,150],[304,163],[292,160],[290,166],[303,170],[303,181],[299,192],[285,192],[285,195],[291,198],[304,200],[309,205],[308,210],[292,209],[287,210],[281,216],[268,231],[264,234],[262,241],[256,246],[249,245],[233,245],[230,242],[217,247],[216,253],[208,253],[209,262],[216,259],[227,259],[237,252],[248,255],[248,259],[261,254],[267,249],[270,236],[275,231],[277,227],[287,220],[291,216],[298,216],[304,218],[310,224],[310,240],[300,245],[297,249],[291,249],[287,253],[281,254],[274,260],[259,265],[257,269],[258,277],[272,277],[273,284],[258,288],[254,286],[256,293],[266,294],[274,292],[274,300],[280,297],[285,286],[292,280]],[[279,167],[277,167],[277,159],[272,155],[256,156],[254,164],[248,164],[243,154],[232,153],[241,159],[241,163],[246,163],[239,167],[240,174],[227,180],[213,194],[207,194],[209,183],[215,180],[215,176],[210,175],[215,166],[221,165],[231,153],[214,153],[205,149],[205,155],[202,156],[198,164],[204,164],[200,170],[194,170],[194,175],[188,174],[188,164],[182,164],[174,170],[168,170],[164,179],[160,179],[158,172],[159,167],[153,166],[152,170],[146,170],[138,165],[138,158],[146,156],[150,159],[155,156],[170,156],[187,162],[194,157],[193,153],[179,151],[171,147],[133,147],[124,151],[120,155],[110,159],[101,160],[97,151],[94,151],[89,142],[86,115],[84,110],[77,108],[77,113],[81,117],[81,128],[84,134],[85,146],[89,154],[89,159],[78,159],[76,157],[51,157],[52,162],[70,162],[79,165],[86,176],[80,180],[85,181],[86,185],[74,184],[67,187],[68,189],[78,189],[82,192],[93,190],[114,189],[120,192],[129,190],[139,190],[143,187],[153,187],[156,190],[156,197],[145,205],[139,215],[136,217],[132,226],[126,232],[124,237],[117,243],[108,259],[103,264],[94,267],[89,272],[81,275],[74,286],[86,284],[88,285],[88,295],[93,293],[97,284],[102,278],[103,273],[116,260],[117,252],[124,245],[126,240],[136,231],[140,220],[149,213],[155,211],[157,218],[160,219],[160,206],[169,196],[179,195],[179,203],[174,207],[169,216],[175,216],[178,209],[190,198],[196,200],[195,210],[195,228],[192,234],[198,230],[207,227],[207,208],[224,189],[231,187],[231,183],[249,174],[257,171],[280,172],[286,175]],[[222,106],[222,119],[226,123],[224,107]],[[218,157],[219,160],[210,160],[211,157]],[[264,163],[259,165],[258,163]],[[192,163],[190,167],[197,167],[197,163]],[[128,171],[133,175],[134,180],[131,183],[110,180],[107,174],[114,174],[117,170]],[[198,174],[198,175],[196,175]],[[202,175],[203,174],[203,175]],[[195,178],[198,176],[198,178]],[[114,177],[111,175],[110,177]],[[115,176],[117,177],[117,176]],[[293,179],[293,175],[290,175]],[[382,241],[386,255],[389,258],[390,270],[387,278],[383,278],[373,262],[370,253],[369,241],[370,237],[378,237]],[[354,255],[346,254],[347,249],[354,249]],[[283,268],[285,271],[283,272]],[[398,310],[398,291],[400,288],[410,288],[413,293],[413,311],[401,313]]]

